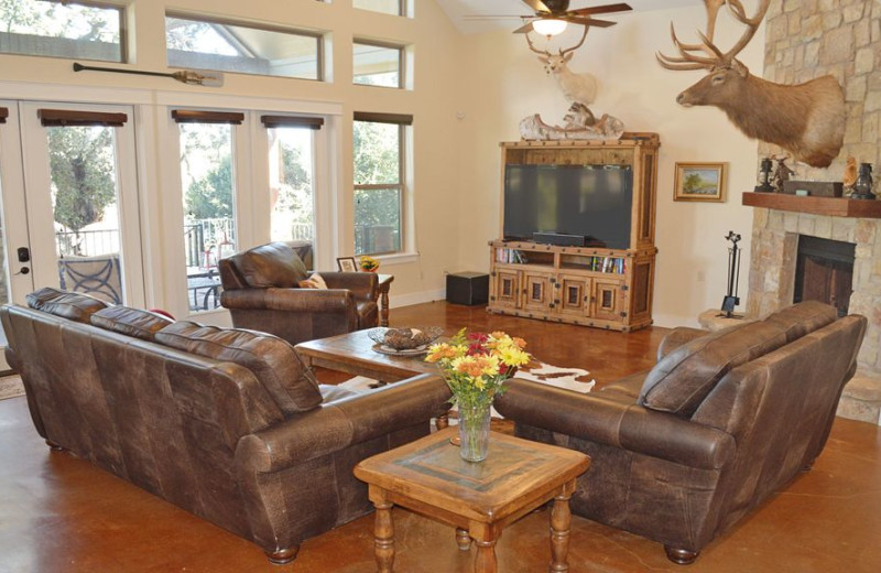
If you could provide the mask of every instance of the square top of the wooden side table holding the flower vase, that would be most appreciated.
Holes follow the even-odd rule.
[[[497,432],[490,433],[483,462],[466,462],[449,443],[456,434],[456,428],[448,428],[369,457],[355,467],[355,475],[384,489],[392,501],[404,497],[494,523],[548,499],[590,465],[580,452]]]

